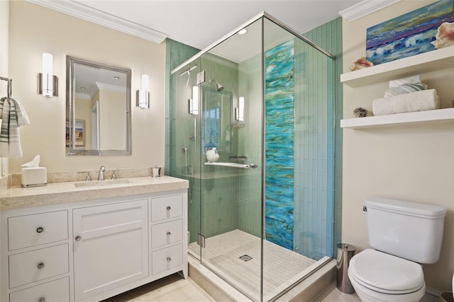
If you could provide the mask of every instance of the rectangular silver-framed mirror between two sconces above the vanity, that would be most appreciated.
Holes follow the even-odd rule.
[[[66,57],[66,155],[131,155],[131,69]]]

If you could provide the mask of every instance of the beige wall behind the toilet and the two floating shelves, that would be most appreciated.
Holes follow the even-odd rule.
[[[343,66],[365,56],[366,29],[433,1],[404,0],[348,23],[343,21]],[[429,88],[441,95],[442,108],[454,98],[454,70],[421,73]],[[343,118],[353,118],[361,106],[372,111],[372,100],[382,98],[388,83],[362,88],[343,86]],[[454,128],[453,124],[411,124],[367,130],[343,130],[342,240],[358,250],[369,248],[365,197],[376,195],[448,208],[441,259],[426,265],[427,286],[450,290],[454,272]]]

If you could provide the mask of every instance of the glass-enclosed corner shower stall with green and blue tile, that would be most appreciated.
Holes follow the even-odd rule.
[[[167,173],[189,180],[189,253],[253,301],[333,257],[335,70],[261,13],[171,71]]]

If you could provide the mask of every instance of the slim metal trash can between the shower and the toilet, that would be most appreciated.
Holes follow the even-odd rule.
[[[345,294],[353,294],[355,289],[353,289],[350,279],[348,278],[348,264],[353,255],[355,255],[356,248],[353,245],[346,243],[338,244],[338,259],[337,259],[337,288]]]

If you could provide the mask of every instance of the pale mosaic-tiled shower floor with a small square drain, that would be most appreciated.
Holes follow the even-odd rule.
[[[199,251],[196,243],[189,245],[189,252],[196,257]],[[244,255],[252,259],[240,259]],[[317,262],[264,240],[263,301],[274,298],[326,259]],[[260,238],[238,229],[206,238],[202,264],[251,300],[260,301]]]

